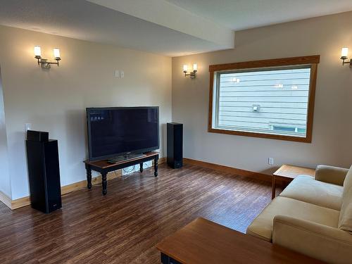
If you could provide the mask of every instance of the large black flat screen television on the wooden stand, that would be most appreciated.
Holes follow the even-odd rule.
[[[159,107],[87,108],[89,161],[159,149]]]

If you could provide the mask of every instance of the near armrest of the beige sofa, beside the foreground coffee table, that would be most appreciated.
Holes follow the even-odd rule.
[[[275,216],[272,243],[327,263],[352,260],[352,234],[286,215]]]

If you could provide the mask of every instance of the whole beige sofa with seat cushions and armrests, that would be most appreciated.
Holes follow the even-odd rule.
[[[328,263],[352,263],[352,166],[318,165],[272,200],[247,234]]]

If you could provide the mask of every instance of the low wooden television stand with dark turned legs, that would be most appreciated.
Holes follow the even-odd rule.
[[[140,165],[139,171],[143,172],[143,163],[146,161],[154,160],[154,176],[158,176],[158,159],[159,153],[156,151],[144,153],[146,156],[139,158],[132,158],[127,161],[120,161],[118,163],[109,163],[108,160],[103,161],[84,161],[87,170],[87,187],[92,189],[92,170],[101,173],[101,185],[103,187],[103,195],[106,195],[107,191],[107,180],[106,176],[108,172],[114,170],[120,170],[133,165]]]

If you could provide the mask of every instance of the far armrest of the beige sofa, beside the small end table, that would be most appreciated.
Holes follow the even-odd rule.
[[[348,169],[328,165],[318,165],[315,170],[315,180],[337,185],[344,185]]]

